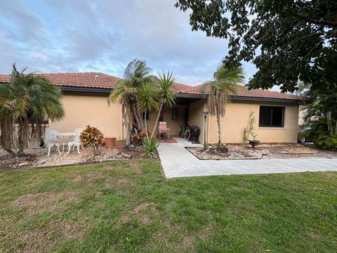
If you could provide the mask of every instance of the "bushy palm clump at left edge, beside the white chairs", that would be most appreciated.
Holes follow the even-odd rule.
[[[10,125],[13,122],[17,123],[19,156],[25,155],[24,148],[29,139],[29,130],[32,136],[41,138],[44,121],[62,119],[64,115],[60,89],[44,77],[33,73],[25,74],[26,69],[18,72],[13,64],[11,83],[6,84],[0,91],[0,121],[2,127],[7,129],[2,133],[5,135],[2,139],[11,138],[14,124]],[[11,141],[13,143],[13,139]]]

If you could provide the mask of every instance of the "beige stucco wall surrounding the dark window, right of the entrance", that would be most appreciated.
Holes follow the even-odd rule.
[[[284,127],[259,127],[260,105],[284,106]],[[282,103],[232,102],[227,104],[223,126],[223,143],[240,143],[241,131],[248,122],[249,112],[254,112],[254,131],[257,140],[265,143],[296,143],[298,134],[298,105]],[[218,125],[216,117],[209,117],[209,143],[218,142]]]

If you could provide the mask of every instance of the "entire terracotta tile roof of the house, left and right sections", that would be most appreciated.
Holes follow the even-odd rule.
[[[104,74],[100,72],[56,73],[41,75],[48,78],[51,82],[53,82],[53,84],[58,86],[73,86],[95,89],[113,89],[116,82],[121,79],[119,77],[114,77],[110,74]],[[10,81],[10,74],[0,74],[0,83]],[[190,86],[180,83],[176,83],[176,92],[180,94],[201,94],[200,85]],[[240,86],[239,90],[237,91],[236,97],[299,100],[299,97],[295,95],[261,89],[247,90],[244,86]]]

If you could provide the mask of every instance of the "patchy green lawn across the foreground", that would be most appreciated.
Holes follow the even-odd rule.
[[[0,172],[0,252],[336,252],[337,173],[165,179],[159,162]]]

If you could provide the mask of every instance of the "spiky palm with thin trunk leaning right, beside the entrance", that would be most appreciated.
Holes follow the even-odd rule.
[[[157,115],[157,119],[156,122],[154,123],[154,127],[153,127],[153,131],[151,134],[151,138],[153,138],[154,136],[154,132],[156,131],[157,128],[157,124],[159,122],[159,117],[160,117],[160,113],[161,110],[164,106],[164,104],[166,103],[166,105],[168,105],[169,107],[172,107],[173,105],[176,105],[176,98],[175,98],[175,89],[176,89],[176,85],[174,84],[174,82],[176,81],[176,77],[173,76],[173,72],[167,72],[167,74],[165,72],[163,72],[163,74],[159,74],[159,80],[157,82],[157,99],[159,100],[160,106],[159,106],[159,110],[158,110],[158,115]]]

